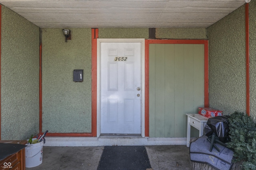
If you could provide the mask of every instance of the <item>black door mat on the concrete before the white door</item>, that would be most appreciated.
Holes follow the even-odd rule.
[[[146,170],[151,168],[144,146],[105,146],[97,170]]]

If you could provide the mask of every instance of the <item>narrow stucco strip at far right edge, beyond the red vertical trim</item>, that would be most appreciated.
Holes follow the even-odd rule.
[[[256,0],[249,3],[250,115],[256,120]]]

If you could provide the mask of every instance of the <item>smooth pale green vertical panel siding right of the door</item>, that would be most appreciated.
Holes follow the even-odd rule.
[[[186,137],[186,113],[204,105],[204,45],[151,44],[149,61],[150,137]]]

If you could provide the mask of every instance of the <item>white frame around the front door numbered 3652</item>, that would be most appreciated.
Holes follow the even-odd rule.
[[[141,43],[141,136],[145,137],[145,39],[97,39],[97,137],[100,137],[100,45],[103,42]]]

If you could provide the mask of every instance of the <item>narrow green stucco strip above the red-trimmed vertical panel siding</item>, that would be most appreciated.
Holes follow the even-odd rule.
[[[158,39],[207,39],[206,28],[156,28]]]

